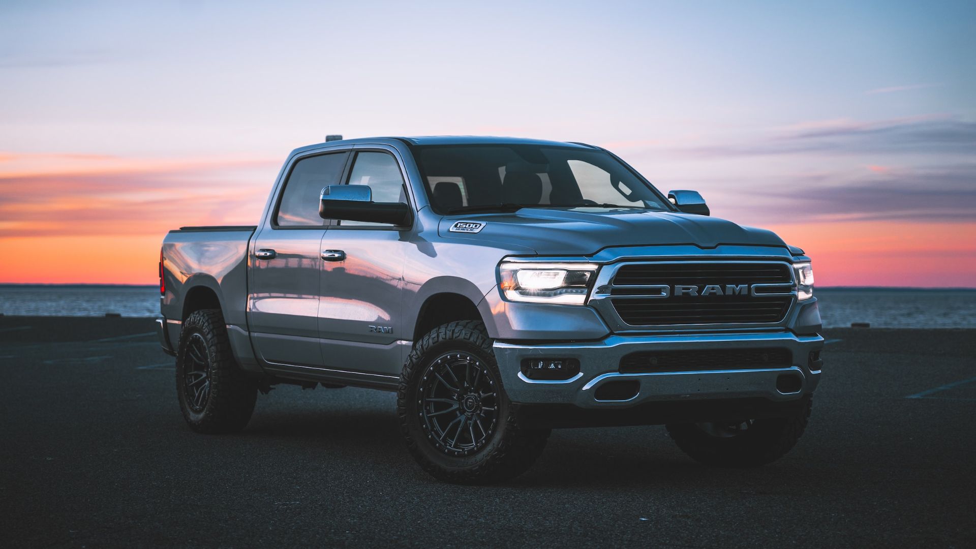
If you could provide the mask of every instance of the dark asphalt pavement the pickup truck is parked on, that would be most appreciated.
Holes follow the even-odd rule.
[[[826,337],[772,465],[699,465],[663,427],[558,430],[514,481],[451,486],[391,393],[279,386],[243,433],[197,435],[151,320],[0,317],[0,545],[976,546],[976,330]]]

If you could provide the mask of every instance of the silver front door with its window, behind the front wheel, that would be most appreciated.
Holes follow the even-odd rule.
[[[367,185],[374,202],[407,202],[403,172],[385,150],[355,152],[347,183]],[[334,221],[322,239],[318,328],[325,366],[399,376],[405,243],[390,225]]]

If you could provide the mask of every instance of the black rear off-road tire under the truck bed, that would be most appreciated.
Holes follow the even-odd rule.
[[[194,338],[202,338],[209,372],[209,395],[202,409],[194,410],[187,393],[188,371],[195,366],[187,347]],[[197,340],[199,341],[199,340]],[[198,366],[196,366],[198,367]],[[183,321],[180,348],[177,351],[177,395],[183,418],[198,433],[234,433],[244,429],[258,398],[257,384],[241,371],[230,352],[230,340],[224,315],[218,309],[195,311]]]

